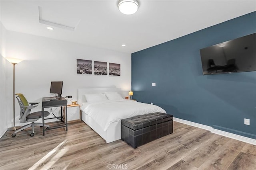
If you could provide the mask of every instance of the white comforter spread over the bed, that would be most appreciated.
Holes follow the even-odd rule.
[[[102,102],[84,103],[81,110],[92,117],[104,131],[108,129],[110,123],[120,121],[121,119],[154,112],[166,113],[159,106],[132,100],[106,100]]]

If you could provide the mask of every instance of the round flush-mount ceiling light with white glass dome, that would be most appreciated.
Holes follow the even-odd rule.
[[[118,8],[123,14],[131,15],[138,10],[139,3],[137,0],[120,0],[118,2]]]

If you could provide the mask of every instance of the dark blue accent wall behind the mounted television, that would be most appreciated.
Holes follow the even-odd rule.
[[[199,51],[255,32],[252,12],[132,53],[132,98],[180,119],[256,139],[256,72],[203,75]]]

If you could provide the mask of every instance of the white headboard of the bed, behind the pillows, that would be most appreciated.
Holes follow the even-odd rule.
[[[86,102],[84,94],[98,94],[104,92],[118,92],[123,98],[128,96],[128,91],[122,91],[121,88],[110,87],[110,88],[79,88],[78,89],[78,104]]]

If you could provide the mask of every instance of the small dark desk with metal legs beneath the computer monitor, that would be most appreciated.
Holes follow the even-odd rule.
[[[42,99],[42,111],[43,111],[43,136],[44,136],[44,131],[46,130],[50,130],[50,129],[56,129],[56,128],[60,128],[60,127],[66,127],[66,131],[68,131],[68,119],[65,119],[65,121],[63,121],[63,116],[62,116],[62,106],[65,106],[67,107],[67,100],[65,98],[59,98],[58,100],[45,100],[45,98]],[[48,129],[44,129],[44,108],[47,108],[47,107],[61,107],[61,121],[64,122],[65,125],[60,125],[60,126],[54,126],[54,127],[50,127]],[[67,109],[65,109],[66,113],[65,113],[65,117],[68,117],[67,116]],[[47,118],[47,119],[55,119],[55,117],[52,117],[52,118]]]

